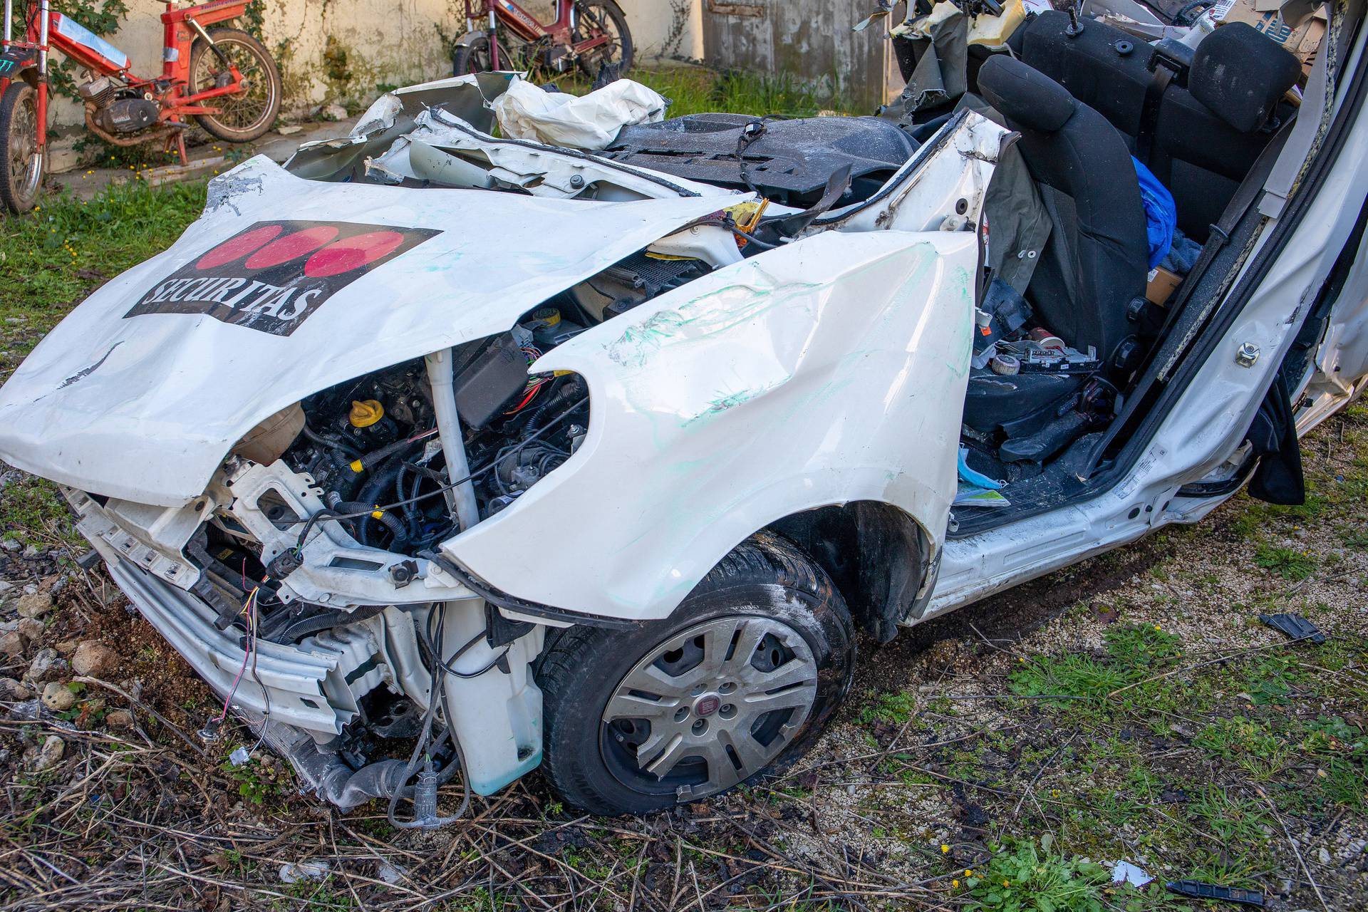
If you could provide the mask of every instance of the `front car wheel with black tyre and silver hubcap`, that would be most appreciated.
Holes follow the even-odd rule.
[[[543,771],[595,814],[720,794],[802,756],[854,667],[854,625],[832,581],[788,541],[757,535],[670,618],[573,626],[547,647]]]

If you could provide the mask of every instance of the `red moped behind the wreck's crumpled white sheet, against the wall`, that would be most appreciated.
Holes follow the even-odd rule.
[[[590,79],[611,79],[632,67],[632,33],[614,0],[555,0],[550,25],[514,0],[462,3],[466,33],[451,55],[453,75],[509,67],[562,74],[579,67]],[[477,27],[482,21],[486,29]]]

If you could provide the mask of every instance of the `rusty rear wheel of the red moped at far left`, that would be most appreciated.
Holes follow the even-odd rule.
[[[209,37],[242,74],[244,88],[237,94],[207,100],[219,112],[197,113],[194,119],[219,139],[250,142],[269,130],[280,112],[280,71],[271,52],[246,31],[213,29]],[[231,83],[233,75],[213,48],[202,38],[196,41],[190,48],[190,94]]]

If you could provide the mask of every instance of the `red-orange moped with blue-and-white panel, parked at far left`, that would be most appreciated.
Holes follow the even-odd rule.
[[[161,75],[137,77],[129,55],[56,12],[49,0],[26,4],[22,40],[14,38],[14,0],[4,3],[0,49],[0,202],[15,213],[38,200],[48,148],[48,53],[83,67],[77,86],[86,127],[111,145],[166,141],[187,164],[185,129],[194,118],[211,135],[250,142],[280,109],[280,72],[271,53],[241,29],[205,30],[246,12],[250,0],[211,0],[178,8],[161,0]]]

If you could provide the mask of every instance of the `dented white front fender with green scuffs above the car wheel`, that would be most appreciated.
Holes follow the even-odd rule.
[[[938,548],[977,261],[969,232],[828,231],[594,327],[532,365],[587,380],[583,444],[443,550],[521,599],[661,618],[802,510],[892,503]],[[508,559],[565,524],[536,562]]]

